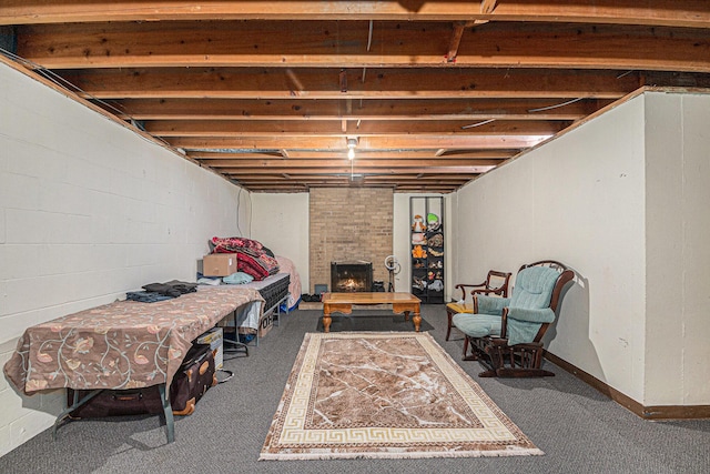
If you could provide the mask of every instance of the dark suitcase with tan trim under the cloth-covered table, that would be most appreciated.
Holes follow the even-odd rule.
[[[214,353],[209,344],[193,345],[170,385],[170,405],[175,415],[190,415],[202,395],[216,385]],[[91,391],[79,390],[79,400]],[[74,390],[67,389],[67,406],[73,404]],[[95,418],[120,415],[163,413],[158,385],[142,389],[103,390],[89,402],[73,410],[72,418]]]

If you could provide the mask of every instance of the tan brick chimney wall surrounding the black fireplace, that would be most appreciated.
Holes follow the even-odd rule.
[[[392,189],[312,189],[308,213],[310,293],[316,284],[332,290],[331,262],[373,262],[373,280],[387,284],[384,262],[393,253]]]

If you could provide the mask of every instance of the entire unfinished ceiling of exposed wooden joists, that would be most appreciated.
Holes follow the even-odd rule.
[[[639,87],[710,87],[707,0],[3,0],[0,32],[255,192],[452,192]]]

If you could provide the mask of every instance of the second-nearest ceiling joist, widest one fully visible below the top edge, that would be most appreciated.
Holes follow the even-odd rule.
[[[388,22],[368,51],[365,21],[73,23],[20,27],[17,53],[49,69],[450,67],[449,36],[446,23]],[[456,67],[710,72],[708,58],[707,30],[489,23],[462,38]]]

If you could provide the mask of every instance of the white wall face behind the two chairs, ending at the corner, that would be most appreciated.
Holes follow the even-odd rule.
[[[637,98],[458,193],[457,274],[537,260],[578,272],[548,332],[554,354],[643,396],[643,100]]]

